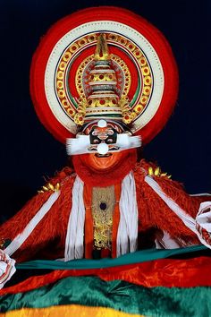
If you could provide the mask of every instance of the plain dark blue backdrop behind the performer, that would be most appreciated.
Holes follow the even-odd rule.
[[[81,8],[116,5],[145,17],[173,47],[180,72],[177,107],[165,129],[145,149],[185,184],[189,193],[211,190],[210,182],[210,1],[0,1],[1,214],[21,208],[66,164],[62,144],[46,132],[29,93],[30,61],[46,30]]]

